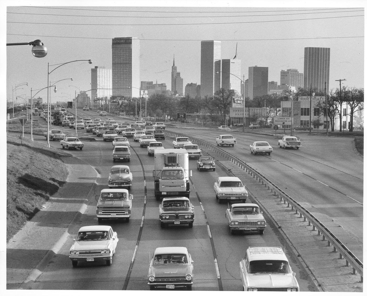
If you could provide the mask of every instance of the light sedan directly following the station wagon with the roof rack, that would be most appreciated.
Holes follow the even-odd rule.
[[[259,232],[264,234],[266,221],[259,206],[256,203],[232,203],[229,209],[226,209],[226,219],[228,221],[231,234],[236,231],[245,233]]]

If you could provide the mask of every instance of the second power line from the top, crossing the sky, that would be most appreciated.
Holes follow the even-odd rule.
[[[321,13],[340,13],[340,12],[358,12],[364,10],[346,10],[346,11],[324,11],[324,12],[300,12],[300,13],[288,13],[288,14],[255,14],[255,15],[231,15],[231,18],[234,17],[277,17],[282,15],[299,15],[299,14],[321,14]],[[276,11],[273,11],[276,12]],[[112,16],[112,15],[73,15],[73,14],[46,14],[46,13],[28,13],[28,12],[7,12],[8,14],[26,14],[26,15],[50,15],[50,16],[58,16],[58,17],[101,17],[101,18],[228,18],[228,15],[200,15],[200,16],[188,16],[188,15],[180,15],[180,16],[172,16],[172,17],[145,17],[145,16]]]

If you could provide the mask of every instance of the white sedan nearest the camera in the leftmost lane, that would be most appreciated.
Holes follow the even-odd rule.
[[[119,239],[111,226],[91,225],[80,227],[73,241],[69,252],[73,267],[79,262],[97,261],[105,261],[110,266]]]

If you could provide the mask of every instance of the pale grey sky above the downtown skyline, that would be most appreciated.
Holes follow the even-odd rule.
[[[17,89],[23,98],[30,97],[31,87],[46,87],[48,63],[52,71],[57,66],[51,65],[78,59],[91,59],[93,64],[73,62],[52,72],[51,82],[73,81],[57,83],[51,102],[69,101],[75,91],[90,90],[91,68],[112,68],[114,37],[139,38],[140,80],[166,83],[167,89],[173,56],[183,86],[200,84],[201,40],[220,40],[222,59],[233,58],[237,45],[241,79],[248,78],[248,67],[262,66],[269,68],[268,80],[278,84],[281,70],[304,73],[305,47],[330,47],[330,89],[339,87],[337,79],[346,79],[342,86],[364,87],[363,1],[307,1],[309,7],[295,7],[294,1],[198,2],[182,1],[173,7],[172,1],[154,1],[156,6],[135,1],[133,7],[115,6],[130,1],[103,1],[106,6],[101,7],[94,1],[82,6],[85,1],[66,0],[63,6],[46,7],[61,1],[5,1],[1,33],[6,42],[40,39],[48,50],[46,57],[36,58],[29,45],[6,47],[1,81],[6,82],[2,89],[7,100],[15,97],[12,90],[19,84],[28,83]],[[270,6],[275,3],[277,7]],[[46,90],[39,96],[47,98]]]

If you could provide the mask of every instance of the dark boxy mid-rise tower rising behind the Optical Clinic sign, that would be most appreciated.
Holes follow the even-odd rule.
[[[248,97],[268,94],[268,67],[248,67]]]

